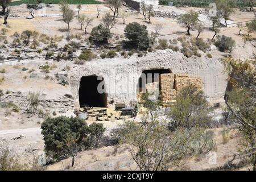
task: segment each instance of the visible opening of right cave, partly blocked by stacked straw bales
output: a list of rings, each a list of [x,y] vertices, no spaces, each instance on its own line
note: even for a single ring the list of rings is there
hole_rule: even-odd
[[[146,84],[158,82],[159,76],[163,73],[171,73],[170,69],[148,69],[142,72],[137,84],[137,92],[142,92],[146,89]]]

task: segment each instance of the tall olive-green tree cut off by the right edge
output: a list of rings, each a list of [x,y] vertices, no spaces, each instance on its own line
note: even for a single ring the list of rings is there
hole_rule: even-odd
[[[256,171],[256,69],[255,60],[225,59],[224,65],[233,88],[225,103],[235,127],[242,134],[241,155]]]

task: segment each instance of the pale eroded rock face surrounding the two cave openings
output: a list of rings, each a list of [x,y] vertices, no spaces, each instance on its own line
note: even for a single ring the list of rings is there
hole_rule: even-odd
[[[137,84],[145,70],[170,69],[172,73],[188,73],[200,77],[203,91],[210,103],[223,102],[227,85],[227,75],[219,60],[202,57],[184,57],[182,53],[171,49],[148,53],[145,57],[131,56],[129,59],[97,59],[76,65],[70,75],[71,90],[79,105],[79,86],[82,76],[99,76],[104,78],[108,106],[117,103],[130,105],[137,100]],[[86,85],[90,89],[90,85]],[[109,104],[111,102],[112,104]]]

